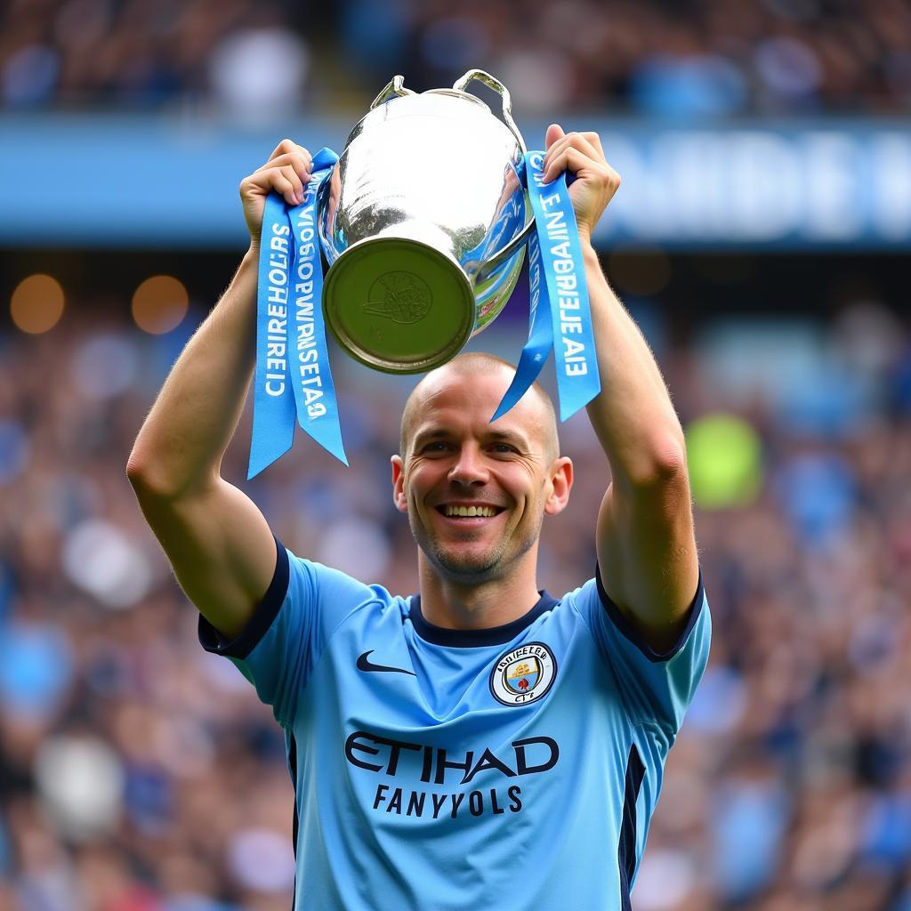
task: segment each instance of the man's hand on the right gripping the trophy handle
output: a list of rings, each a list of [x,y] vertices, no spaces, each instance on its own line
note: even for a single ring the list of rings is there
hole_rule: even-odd
[[[617,192],[620,176],[605,159],[597,133],[564,133],[554,123],[548,127],[545,147],[544,181],[557,179],[563,171],[574,175],[569,199],[576,211],[579,237],[590,241],[601,213]]]

